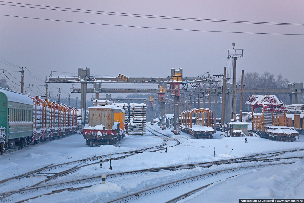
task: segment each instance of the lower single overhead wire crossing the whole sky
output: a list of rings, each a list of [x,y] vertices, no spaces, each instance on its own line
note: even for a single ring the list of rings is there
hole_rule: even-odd
[[[92,24],[92,25],[109,25],[109,26],[120,26],[120,27],[150,28],[150,29],[158,29],[158,30],[180,30],[180,31],[196,31],[196,32],[240,33],[240,34],[268,34],[268,35],[300,35],[300,36],[304,35],[304,34],[288,34],[288,33],[231,32],[231,31],[215,31],[215,30],[191,30],[191,29],[176,29],[176,28],[161,28],[161,27],[115,25],[115,24],[105,24],[105,23],[88,23],[88,22],[69,21],[69,20],[55,20],[55,19],[46,19],[46,18],[32,18],[32,17],[12,16],[12,15],[3,15],[3,14],[0,14],[0,16],[9,16],[9,17],[18,17],[18,18],[27,18],[27,19],[39,19],[39,20],[49,20],[49,21],[67,22],[67,23],[83,23],[83,24]]]

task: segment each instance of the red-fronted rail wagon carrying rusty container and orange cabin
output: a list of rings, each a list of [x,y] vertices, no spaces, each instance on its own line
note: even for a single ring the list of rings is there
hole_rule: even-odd
[[[126,131],[124,109],[114,105],[89,107],[89,123],[83,130],[87,145],[114,145]]]

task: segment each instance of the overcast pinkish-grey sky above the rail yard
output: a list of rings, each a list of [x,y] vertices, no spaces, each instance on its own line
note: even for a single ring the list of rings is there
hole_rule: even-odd
[[[157,16],[304,23],[304,2],[301,0],[10,2]],[[147,19],[7,5],[0,5],[0,14],[129,26],[304,34],[303,26]],[[197,76],[208,71],[217,75],[223,73],[227,50],[235,43],[236,49],[244,49],[244,58],[237,60],[238,78],[244,69],[245,72],[282,73],[291,82],[304,81],[304,36],[157,30],[0,16],[0,39],[0,56],[13,64],[26,66],[41,80],[45,80],[51,70],[77,73],[78,67],[89,67],[91,74],[112,76],[119,73],[168,76],[171,68],[183,68],[184,76]],[[0,69],[17,70],[2,63]],[[19,75],[15,74],[20,78]],[[44,84],[28,75],[25,83],[25,86],[28,83]],[[63,86],[66,92],[71,87],[70,84],[54,86]]]

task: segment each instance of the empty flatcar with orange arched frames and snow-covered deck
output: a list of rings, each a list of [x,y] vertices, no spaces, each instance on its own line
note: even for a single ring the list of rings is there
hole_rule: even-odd
[[[212,111],[209,109],[192,109],[181,112],[181,131],[195,138],[212,138]]]

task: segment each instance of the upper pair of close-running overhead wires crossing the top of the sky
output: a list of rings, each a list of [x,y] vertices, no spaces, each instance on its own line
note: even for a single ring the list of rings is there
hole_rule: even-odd
[[[34,9],[47,9],[47,10],[57,10],[57,11],[68,11],[68,12],[81,12],[81,13],[92,13],[92,14],[103,14],[103,15],[115,15],[115,16],[131,16],[131,17],[142,17],[142,18],[156,18],[156,19],[174,19],[174,20],[191,20],[191,21],[207,21],[207,22],[220,22],[220,23],[249,23],[249,24],[267,24],[267,25],[292,25],[292,26],[304,26],[302,23],[274,23],[274,22],[256,22],[256,21],[239,21],[239,20],[221,20],[221,19],[203,19],[203,18],[186,18],[186,17],[173,17],[173,16],[155,16],[155,15],[144,15],[144,14],[134,14],[134,13],[120,13],[120,12],[107,12],[107,11],[96,11],[96,10],[86,10],[86,9],[72,9],[56,6],[45,6],[45,5],[35,5],[35,4],[24,4],[24,3],[15,3],[15,2],[5,2],[19,5],[10,5],[10,4],[0,4],[8,6],[18,6]],[[22,6],[29,5],[29,6]],[[32,6],[40,6],[47,8],[39,8]],[[53,8],[53,9],[50,9]],[[63,10],[70,9],[70,10]]]

